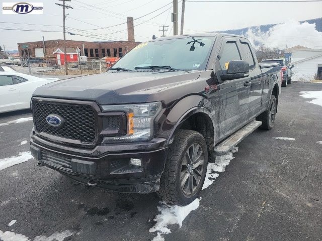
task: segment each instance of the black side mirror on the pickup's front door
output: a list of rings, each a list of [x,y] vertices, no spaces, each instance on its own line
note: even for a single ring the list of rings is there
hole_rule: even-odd
[[[248,77],[250,64],[245,60],[234,60],[228,63],[226,71],[222,71],[221,80],[240,79]]]

